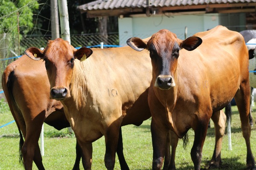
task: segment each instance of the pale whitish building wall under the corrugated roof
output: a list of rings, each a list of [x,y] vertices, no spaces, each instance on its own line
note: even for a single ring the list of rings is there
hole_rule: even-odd
[[[233,19],[233,17],[236,18]],[[207,31],[207,29],[218,25],[230,26],[231,24],[234,26],[244,24],[244,22],[245,14],[233,14],[230,16],[227,14],[187,14],[168,17],[166,15],[124,17],[118,19],[119,45],[126,45],[126,40],[131,37],[150,37],[160,29],[168,29],[183,40],[185,39],[185,27],[187,27],[187,37],[190,37],[197,32]]]

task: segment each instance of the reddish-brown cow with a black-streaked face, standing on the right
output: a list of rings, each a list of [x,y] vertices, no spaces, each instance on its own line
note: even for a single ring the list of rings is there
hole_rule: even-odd
[[[209,119],[218,116],[217,111],[233,97],[247,146],[247,167],[256,168],[250,148],[248,51],[241,34],[217,26],[180,40],[160,30],[148,41],[133,37],[127,43],[136,51],[150,52],[153,73],[148,103],[154,170],[163,164],[168,130],[181,138],[190,128],[195,131],[191,157],[199,170]]]

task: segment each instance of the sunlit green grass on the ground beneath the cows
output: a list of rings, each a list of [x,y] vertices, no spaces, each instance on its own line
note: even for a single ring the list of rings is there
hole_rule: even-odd
[[[6,103],[1,101],[1,107],[6,108]],[[220,170],[243,170],[246,164],[246,146],[241,134],[241,123],[236,106],[232,107],[233,116],[231,122],[232,150],[228,150],[227,135],[223,139],[222,164]],[[251,147],[256,155],[256,107],[254,107],[253,123],[251,131]],[[8,109],[0,113],[0,126],[13,120]],[[151,119],[143,122],[140,127],[128,125],[122,127],[124,155],[131,170],[151,170],[152,144],[150,133]],[[44,156],[43,163],[47,170],[68,170],[72,169],[76,151],[76,138],[70,135],[67,129],[58,131],[53,127],[44,124]],[[177,170],[193,170],[193,163],[190,158],[190,150],[194,141],[194,132],[189,130],[189,143],[186,150],[183,149],[180,140],[176,153]],[[213,122],[208,129],[204,142],[203,158],[201,168],[206,169],[213,153],[215,143]],[[19,164],[18,130],[15,123],[0,128],[0,170],[23,170]],[[93,170],[106,169],[104,165],[105,142],[104,137],[93,143]],[[33,163],[33,170],[36,170]],[[80,169],[83,167],[80,165]],[[119,161],[116,156],[115,170],[119,170]]]

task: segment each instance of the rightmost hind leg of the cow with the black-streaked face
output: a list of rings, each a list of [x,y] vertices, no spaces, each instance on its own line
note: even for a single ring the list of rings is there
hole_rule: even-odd
[[[250,87],[249,82],[244,82],[240,85],[239,90],[235,95],[236,105],[239,111],[239,116],[241,119],[241,129],[243,137],[245,139],[245,144],[247,147],[247,158],[246,165],[248,169],[253,169],[255,167],[255,161],[253,159],[253,153],[250,147],[250,131],[251,126],[249,123],[249,110],[250,110]]]

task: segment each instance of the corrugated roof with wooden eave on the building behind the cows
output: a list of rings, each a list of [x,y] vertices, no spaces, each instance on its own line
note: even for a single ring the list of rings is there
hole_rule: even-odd
[[[81,13],[87,12],[87,17],[99,17],[152,11],[255,12],[255,6],[256,0],[96,0],[77,8]]]

